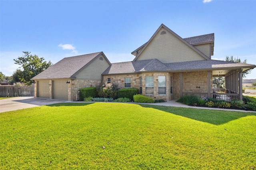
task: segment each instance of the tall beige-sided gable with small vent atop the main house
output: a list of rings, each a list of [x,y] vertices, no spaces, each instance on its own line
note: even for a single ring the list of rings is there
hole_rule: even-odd
[[[158,59],[162,63],[176,63],[207,60],[209,57],[162,24],[134,61],[147,59]]]

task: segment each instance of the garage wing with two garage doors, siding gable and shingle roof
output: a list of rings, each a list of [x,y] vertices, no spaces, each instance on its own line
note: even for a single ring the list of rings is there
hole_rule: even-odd
[[[110,65],[103,52],[64,58],[32,78],[34,96],[76,100],[80,88],[101,84],[101,74]]]

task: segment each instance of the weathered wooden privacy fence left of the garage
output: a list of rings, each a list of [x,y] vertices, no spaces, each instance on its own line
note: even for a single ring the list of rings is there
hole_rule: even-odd
[[[34,96],[32,86],[0,86],[0,97]]]

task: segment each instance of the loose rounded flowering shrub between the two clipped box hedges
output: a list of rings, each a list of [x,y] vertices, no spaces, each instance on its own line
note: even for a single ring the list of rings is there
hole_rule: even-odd
[[[96,94],[100,98],[116,98],[117,85],[112,83],[104,83],[96,87]]]

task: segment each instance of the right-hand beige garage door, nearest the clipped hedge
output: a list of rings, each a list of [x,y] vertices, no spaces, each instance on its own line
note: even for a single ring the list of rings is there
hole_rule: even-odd
[[[68,100],[68,84],[67,80],[54,80],[53,84],[53,98],[59,100]]]

